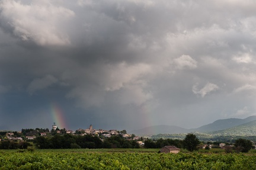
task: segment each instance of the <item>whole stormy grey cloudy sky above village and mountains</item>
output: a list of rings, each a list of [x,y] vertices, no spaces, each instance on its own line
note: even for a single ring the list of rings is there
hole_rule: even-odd
[[[254,0],[1,0],[0,130],[196,128],[256,113]]]

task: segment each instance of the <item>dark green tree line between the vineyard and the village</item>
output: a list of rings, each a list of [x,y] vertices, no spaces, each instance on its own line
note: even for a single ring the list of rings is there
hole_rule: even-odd
[[[142,139],[141,139],[142,140]],[[140,148],[137,140],[126,139],[121,134],[104,138],[103,136],[94,136],[92,134],[72,135],[72,134],[55,134],[53,136],[39,136],[33,140],[34,146],[39,149],[75,149],[75,148]],[[161,148],[172,145],[178,148],[187,149],[190,152],[199,149],[199,139],[195,134],[187,134],[184,140],[179,139],[146,139],[145,148]],[[27,149],[32,146],[30,142],[14,142],[4,140],[0,142],[0,149]],[[233,146],[225,146],[226,152],[248,152],[252,149],[251,140],[238,139]],[[206,147],[206,149],[209,149]]]

